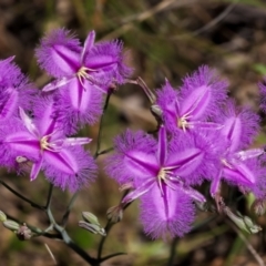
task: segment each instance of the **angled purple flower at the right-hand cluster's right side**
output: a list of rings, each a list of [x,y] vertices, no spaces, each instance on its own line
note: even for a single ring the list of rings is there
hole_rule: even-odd
[[[221,164],[217,165],[219,171],[212,182],[211,194],[214,196],[221,181],[225,180],[260,197],[263,167],[259,156],[264,151],[243,150],[252,143],[258,132],[257,114],[247,108],[236,108],[233,101],[227,101],[225,112],[217,120],[224,124],[219,131],[219,141],[224,143],[224,151],[219,155]]]

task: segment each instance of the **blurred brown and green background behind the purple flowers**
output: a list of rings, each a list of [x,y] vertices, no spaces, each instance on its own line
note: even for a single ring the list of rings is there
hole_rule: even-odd
[[[121,39],[127,64],[134,68],[133,79],[142,79],[152,89],[160,88],[165,78],[174,86],[182,78],[202,64],[216,68],[228,79],[229,94],[237,102],[258,111],[257,83],[266,75],[266,2],[264,0],[0,0],[0,58],[16,55],[21,66],[38,88],[50,78],[37,65],[34,48],[48,31],[64,27],[83,41],[92,29],[98,40]],[[266,143],[263,130],[254,145]],[[102,149],[112,146],[112,139],[126,127],[153,130],[155,120],[140,88],[127,84],[111,98],[103,126]],[[95,150],[99,124],[82,130],[82,135],[94,139],[89,149]],[[102,155],[98,158],[103,167]],[[28,176],[13,176],[2,171],[3,180],[32,200],[44,203],[48,183],[39,177],[30,183]],[[106,223],[106,209],[117,204],[121,193],[117,184],[100,171],[98,181],[84,188],[71,213],[70,235],[90,254],[95,255],[100,236],[78,227],[82,211],[99,216]],[[226,193],[226,192],[225,192]],[[234,192],[236,193],[236,192]],[[235,194],[234,194],[235,195]],[[52,206],[60,218],[71,195],[55,190]],[[31,208],[0,186],[0,209],[31,225],[45,228],[44,214]],[[234,203],[233,207],[248,214],[249,200]],[[257,265],[237,233],[224,217],[198,213],[195,229],[175,241],[178,266],[252,266]],[[254,217],[266,227],[266,218]],[[206,221],[205,223],[202,223]],[[54,265],[44,244],[53,253],[58,265],[86,265],[60,242],[44,237],[19,242],[0,225],[0,265]],[[249,244],[266,262],[265,231],[246,236]],[[124,213],[105,243],[103,255],[124,252],[103,265],[164,266],[171,252],[171,242],[151,241],[142,232],[137,218],[137,203]]]

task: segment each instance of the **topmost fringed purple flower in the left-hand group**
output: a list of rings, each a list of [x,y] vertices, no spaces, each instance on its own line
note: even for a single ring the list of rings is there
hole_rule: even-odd
[[[81,48],[78,39],[63,29],[52,31],[37,49],[41,68],[55,78],[44,92],[60,89],[61,108],[73,123],[94,123],[102,113],[102,93],[124,83],[131,73],[123,63],[122,43],[94,43],[91,31]]]

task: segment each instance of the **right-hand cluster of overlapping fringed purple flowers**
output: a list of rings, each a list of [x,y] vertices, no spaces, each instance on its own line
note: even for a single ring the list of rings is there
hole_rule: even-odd
[[[263,85],[260,93],[266,99]],[[146,234],[157,238],[187,233],[195,218],[194,202],[206,201],[195,186],[205,181],[217,211],[227,216],[234,215],[218,202],[222,182],[259,201],[266,198],[264,150],[248,150],[258,133],[259,116],[227,98],[227,82],[214,70],[201,66],[183,80],[180,90],[166,81],[152,104],[160,110],[157,134],[126,131],[117,136],[105,167],[122,186],[132,186],[122,203],[140,197]]]

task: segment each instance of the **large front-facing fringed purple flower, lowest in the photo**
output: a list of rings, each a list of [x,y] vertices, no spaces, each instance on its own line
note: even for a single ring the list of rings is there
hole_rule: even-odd
[[[116,153],[108,161],[106,172],[134,187],[123,203],[141,197],[144,231],[154,238],[167,233],[183,236],[194,219],[192,201],[205,201],[186,184],[186,177],[198,176],[205,168],[204,151],[178,143],[175,136],[167,141],[164,126],[157,142],[143,132],[127,131],[116,139]]]

